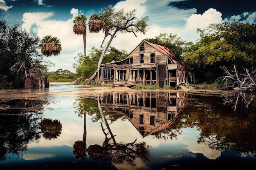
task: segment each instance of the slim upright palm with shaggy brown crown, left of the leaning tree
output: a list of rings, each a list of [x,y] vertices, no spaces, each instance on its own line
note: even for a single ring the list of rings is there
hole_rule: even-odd
[[[84,48],[85,56],[86,56],[86,20],[87,20],[87,17],[85,15],[81,15],[81,16],[78,15],[73,20],[74,33],[77,35],[83,34],[83,48]]]

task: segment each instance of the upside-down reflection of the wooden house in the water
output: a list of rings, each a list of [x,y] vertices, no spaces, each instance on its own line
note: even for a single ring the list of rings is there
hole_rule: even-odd
[[[103,93],[99,96],[103,110],[124,113],[142,136],[171,123],[179,114],[183,99],[180,92]]]

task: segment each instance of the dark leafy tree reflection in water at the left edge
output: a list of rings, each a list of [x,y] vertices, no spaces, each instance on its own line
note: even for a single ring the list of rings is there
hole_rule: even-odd
[[[25,152],[27,144],[40,139],[38,121],[41,115],[37,112],[26,114],[0,115],[0,160],[12,153],[20,155]]]

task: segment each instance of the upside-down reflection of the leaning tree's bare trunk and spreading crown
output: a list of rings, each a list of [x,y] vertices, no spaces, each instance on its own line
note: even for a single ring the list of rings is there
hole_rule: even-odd
[[[101,106],[99,103],[98,97],[98,107],[102,116],[102,121],[104,121],[107,129],[103,128],[103,124],[101,122],[101,127],[103,133],[105,134],[105,141],[102,146],[100,145],[91,145],[88,147],[88,155],[93,160],[103,160],[109,164],[121,164],[126,163],[127,165],[135,166],[135,159],[141,158],[149,161],[150,150],[149,146],[146,145],[145,142],[136,143],[136,140],[132,143],[124,144],[123,142],[117,143],[115,141],[115,136],[112,134],[110,127],[108,126],[108,122],[106,120],[103,111],[101,110]],[[105,132],[108,130],[108,132]],[[110,134],[111,137],[108,137]],[[110,142],[112,140],[112,143]]]

